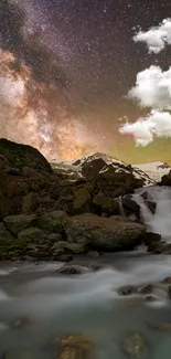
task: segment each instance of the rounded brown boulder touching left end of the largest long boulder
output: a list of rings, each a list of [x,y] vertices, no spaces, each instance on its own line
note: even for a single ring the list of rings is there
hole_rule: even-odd
[[[43,214],[38,223],[38,226],[47,233],[58,233],[63,232],[64,221],[66,214],[63,211],[52,211]]]

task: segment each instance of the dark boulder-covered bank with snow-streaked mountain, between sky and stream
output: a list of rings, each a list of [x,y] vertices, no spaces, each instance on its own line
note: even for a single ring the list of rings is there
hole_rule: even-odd
[[[162,249],[160,235],[146,233],[131,198],[156,182],[110,156],[50,165],[35,148],[0,139],[0,260],[67,262],[140,244],[154,253]],[[170,179],[164,176],[160,186]],[[146,189],[142,196],[154,212]]]

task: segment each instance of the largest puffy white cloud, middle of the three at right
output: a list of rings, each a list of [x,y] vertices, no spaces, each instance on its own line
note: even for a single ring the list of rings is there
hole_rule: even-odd
[[[136,86],[128,92],[128,97],[139,102],[142,107],[171,108],[171,66],[162,71],[151,65],[137,74]]]

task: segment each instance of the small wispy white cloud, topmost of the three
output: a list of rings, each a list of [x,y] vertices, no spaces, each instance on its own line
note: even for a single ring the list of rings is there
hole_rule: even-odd
[[[158,54],[167,44],[171,44],[171,19],[164,19],[159,27],[152,27],[148,31],[139,31],[133,41],[146,43],[149,53]]]

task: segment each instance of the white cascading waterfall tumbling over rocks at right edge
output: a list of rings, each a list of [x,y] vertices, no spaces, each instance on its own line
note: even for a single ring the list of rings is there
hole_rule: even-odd
[[[147,192],[148,200],[142,193]],[[149,232],[161,234],[162,239],[171,242],[171,188],[170,187],[147,187],[135,191],[132,199],[140,205],[141,218]],[[157,204],[152,214],[148,201]]]

